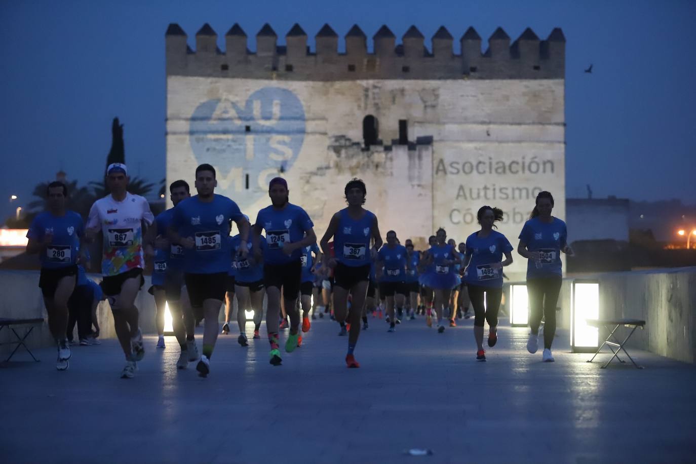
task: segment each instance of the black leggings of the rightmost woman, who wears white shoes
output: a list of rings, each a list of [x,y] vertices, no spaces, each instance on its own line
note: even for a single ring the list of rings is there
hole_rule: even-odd
[[[541,317],[544,317],[544,348],[548,349],[556,333],[556,303],[561,283],[560,275],[527,279],[529,327],[533,334],[538,334]]]

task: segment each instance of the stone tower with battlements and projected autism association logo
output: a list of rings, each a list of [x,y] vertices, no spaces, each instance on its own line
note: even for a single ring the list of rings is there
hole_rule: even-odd
[[[352,177],[367,184],[366,207],[384,232],[425,241],[445,227],[457,241],[477,230],[483,205],[505,211],[499,230],[516,243],[536,194],[555,196],[564,218],[565,38],[526,29],[512,44],[503,29],[482,39],[468,28],[454,53],[441,27],[429,44],[416,26],[401,43],[388,26],[373,37],[353,26],[339,52],[325,24],[295,24],[278,45],[269,24],[251,51],[239,24],[225,49],[208,24],[195,50],[177,24],[166,31],[167,181],[193,181],[216,167],[218,193],[254,221],[268,205],[267,182],[282,175],[290,201],[322,234],[345,205]],[[220,41],[221,42],[221,41]],[[429,45],[429,47],[428,47]],[[522,275],[520,259],[509,268]]]

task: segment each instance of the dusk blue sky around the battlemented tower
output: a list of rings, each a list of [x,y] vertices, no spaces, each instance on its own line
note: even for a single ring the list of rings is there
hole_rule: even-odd
[[[142,3],[142,4],[141,4]],[[145,4],[145,5],[143,5]],[[696,203],[695,1],[2,1],[0,2],[0,223],[63,168],[80,184],[103,175],[111,119],[125,124],[132,175],[164,177],[164,32],[223,35],[238,22],[250,37],[265,22],[278,42],[294,22],[313,36],[328,22],[341,36],[381,24],[400,38],[415,24],[484,39],[530,26],[567,39],[567,196]],[[372,40],[370,39],[370,47]],[[594,64],[592,74],[585,67]],[[9,196],[19,200],[10,205]]]

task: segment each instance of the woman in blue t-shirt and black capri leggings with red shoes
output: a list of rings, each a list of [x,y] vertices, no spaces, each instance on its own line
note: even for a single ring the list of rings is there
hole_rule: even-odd
[[[488,346],[495,346],[498,341],[498,310],[500,310],[500,300],[503,298],[503,267],[512,264],[512,245],[505,235],[493,230],[496,222],[503,219],[501,209],[481,207],[476,218],[481,225],[481,230],[474,232],[466,239],[464,280],[474,308],[476,360],[485,361],[484,321],[488,321],[490,326]],[[504,261],[503,255],[505,255]]]

